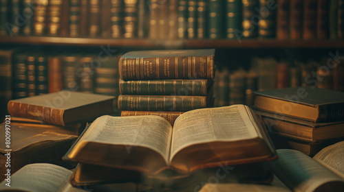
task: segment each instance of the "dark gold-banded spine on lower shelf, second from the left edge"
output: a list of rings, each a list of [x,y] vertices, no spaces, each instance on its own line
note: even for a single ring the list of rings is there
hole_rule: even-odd
[[[24,53],[17,53],[13,58],[13,97],[19,99],[28,97],[28,77],[26,68],[26,59],[28,57]]]

